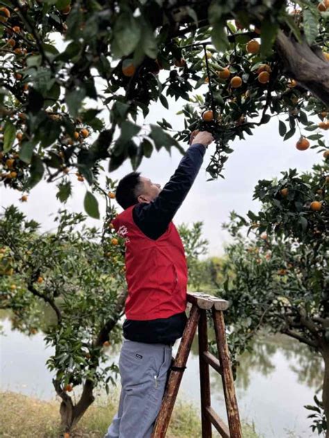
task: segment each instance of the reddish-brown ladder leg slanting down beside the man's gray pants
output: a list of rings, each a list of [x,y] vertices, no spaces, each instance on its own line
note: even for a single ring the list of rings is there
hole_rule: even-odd
[[[166,436],[167,428],[169,426],[169,421],[178,394],[180,382],[183,378],[183,367],[185,367],[186,365],[187,357],[189,356],[189,351],[191,350],[192,341],[196,332],[196,327],[198,326],[199,317],[199,308],[197,308],[196,305],[193,305],[174,362],[174,367],[182,368],[182,370],[170,371],[169,380],[165,389],[165,395],[162,398],[160,412],[158,414],[157,420],[155,421],[155,426],[152,434],[153,438],[164,438]]]

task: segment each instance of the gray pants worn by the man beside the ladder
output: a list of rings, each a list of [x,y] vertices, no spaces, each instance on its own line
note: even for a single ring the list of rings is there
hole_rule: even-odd
[[[124,339],[119,410],[104,438],[149,438],[160,411],[172,347]]]

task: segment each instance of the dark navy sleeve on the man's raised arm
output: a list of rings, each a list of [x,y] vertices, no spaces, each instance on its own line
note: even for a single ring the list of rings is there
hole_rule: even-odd
[[[139,203],[133,209],[133,219],[142,232],[151,239],[165,233],[178,208],[199,173],[205,155],[203,144],[192,144],[169,182],[151,203]]]

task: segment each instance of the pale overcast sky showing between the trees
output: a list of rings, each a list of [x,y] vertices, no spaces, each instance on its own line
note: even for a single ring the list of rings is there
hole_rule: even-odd
[[[58,39],[56,43],[59,49],[62,44]],[[197,90],[201,94],[201,89]],[[183,128],[183,115],[176,115],[185,101],[169,100],[169,110],[166,110],[160,103],[154,103],[150,108],[150,113],[146,118],[146,123],[164,117],[171,123],[174,129]],[[95,108],[95,103],[90,101],[88,106]],[[99,108],[99,107],[98,107]],[[108,125],[108,116],[105,121]],[[140,123],[142,120],[140,120]],[[328,135],[328,133],[327,133]],[[223,245],[228,242],[228,233],[221,228],[223,222],[228,221],[229,213],[232,210],[239,214],[245,214],[248,210],[258,211],[259,203],[253,201],[253,188],[258,180],[263,178],[280,177],[281,171],[298,169],[298,171],[310,171],[312,165],[322,161],[322,154],[316,153],[312,149],[298,151],[295,148],[298,134],[295,137],[282,141],[278,134],[278,119],[273,118],[269,124],[260,126],[254,130],[253,136],[246,136],[245,141],[237,140],[231,144],[234,152],[226,162],[223,175],[225,179],[219,178],[215,181],[206,181],[210,176],[205,172],[205,168],[210,160],[210,155],[214,151],[214,144],[208,147],[205,153],[203,166],[197,176],[194,186],[190,190],[180,210],[178,210],[174,223],[176,225],[185,222],[192,224],[194,221],[203,221],[203,234],[209,239],[210,255],[221,255]],[[92,141],[92,138],[90,139]],[[187,144],[182,144],[187,148]],[[139,171],[155,183],[162,186],[167,183],[170,176],[182,158],[182,155],[172,149],[171,156],[165,149],[156,153],[153,152],[151,158],[144,158]],[[104,163],[107,170],[108,164]],[[117,171],[112,172],[111,178],[119,179],[132,170],[130,162],[125,162]],[[72,172],[71,181],[74,183],[74,196],[72,196],[65,208],[72,211],[83,211],[83,198],[87,187],[86,182],[81,183],[76,180]],[[28,196],[27,203],[20,203],[19,197],[22,193],[12,189],[0,187],[1,206],[6,207],[11,203],[19,205],[19,208],[29,219],[35,219],[42,224],[42,230],[52,230],[56,227],[53,222],[55,213],[62,204],[56,199],[56,185],[45,182],[39,183]],[[105,203],[99,198],[101,213],[105,212]],[[121,208],[119,208],[121,211]],[[88,219],[88,224],[101,226],[101,221]]]

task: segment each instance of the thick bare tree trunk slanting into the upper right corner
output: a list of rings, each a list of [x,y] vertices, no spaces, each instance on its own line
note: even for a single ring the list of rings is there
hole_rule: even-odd
[[[276,47],[289,76],[329,106],[329,62],[321,50],[278,32]]]

